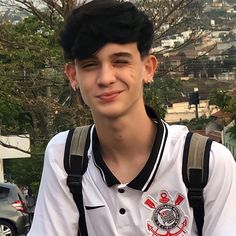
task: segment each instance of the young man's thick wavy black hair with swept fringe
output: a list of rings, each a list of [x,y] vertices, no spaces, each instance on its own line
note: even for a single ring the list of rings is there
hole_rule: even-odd
[[[130,2],[93,0],[72,11],[60,33],[66,60],[83,60],[107,43],[137,42],[141,56],[149,53],[153,24]]]

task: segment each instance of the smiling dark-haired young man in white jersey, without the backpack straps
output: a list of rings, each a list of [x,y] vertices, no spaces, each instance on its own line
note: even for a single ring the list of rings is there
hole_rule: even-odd
[[[143,100],[143,85],[157,68],[152,40],[148,17],[115,0],[75,9],[61,33],[66,75],[94,120],[82,180],[89,236],[198,235],[182,179],[188,129],[169,126]],[[63,166],[67,134],[57,134],[46,149],[29,236],[77,235],[79,212]],[[235,199],[235,162],[213,142],[204,236],[234,234]]]

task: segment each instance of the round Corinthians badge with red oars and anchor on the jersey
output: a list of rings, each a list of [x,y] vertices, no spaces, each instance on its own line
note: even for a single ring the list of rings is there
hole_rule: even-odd
[[[160,192],[158,201],[147,197],[144,205],[152,210],[151,221],[147,221],[147,231],[151,236],[184,236],[187,235],[188,219],[183,214],[180,205],[184,197],[178,194],[172,200],[166,191]]]

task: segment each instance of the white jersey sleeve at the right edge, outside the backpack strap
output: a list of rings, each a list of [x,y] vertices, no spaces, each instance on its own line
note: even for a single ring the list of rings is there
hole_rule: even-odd
[[[235,235],[236,162],[225,146],[213,142],[209,168],[203,235]]]

